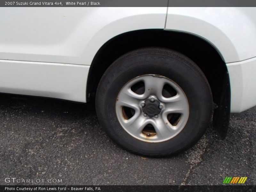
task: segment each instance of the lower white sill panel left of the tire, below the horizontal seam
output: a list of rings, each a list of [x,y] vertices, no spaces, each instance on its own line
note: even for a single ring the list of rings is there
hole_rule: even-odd
[[[0,60],[0,92],[85,102],[89,66]]]

